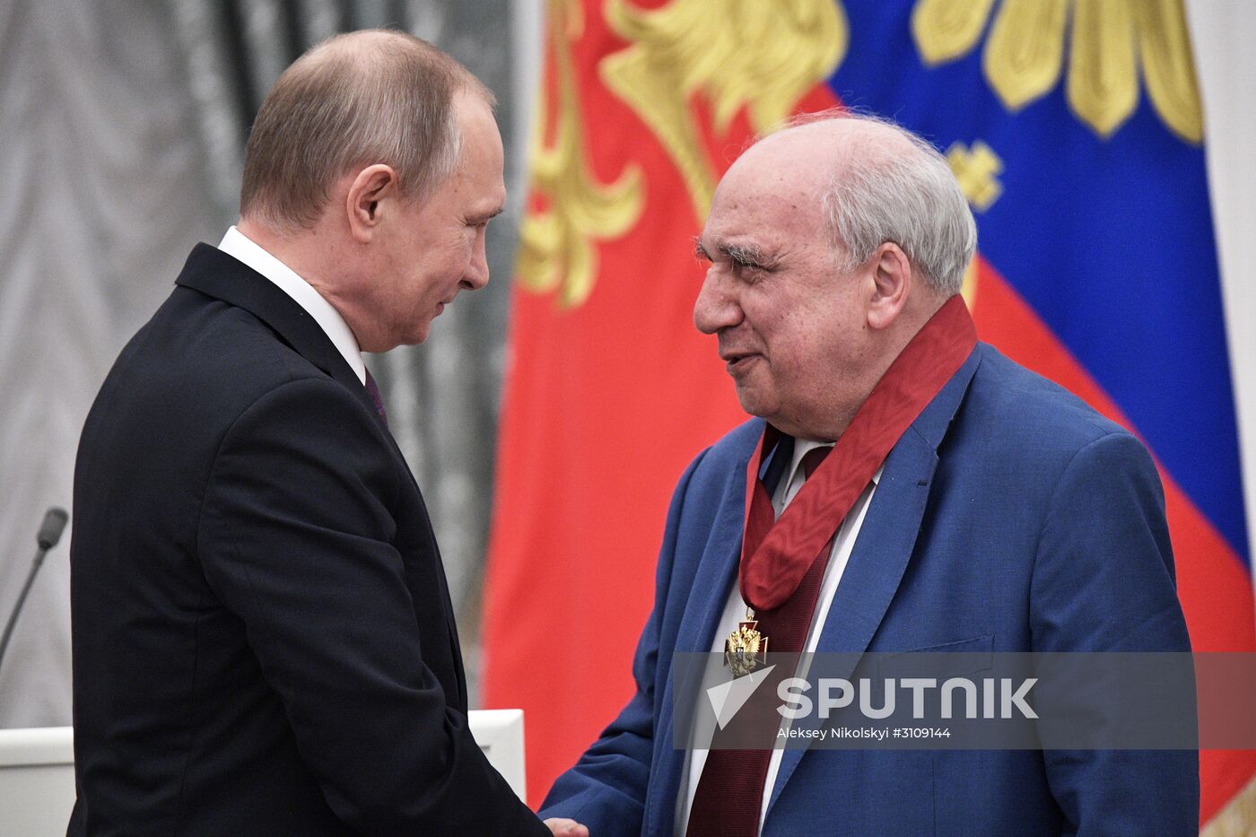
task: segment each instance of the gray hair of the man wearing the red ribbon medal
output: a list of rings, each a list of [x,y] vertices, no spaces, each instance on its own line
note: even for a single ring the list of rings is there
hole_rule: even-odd
[[[857,131],[849,140],[845,160],[821,194],[834,244],[845,251],[842,268],[853,270],[891,241],[903,249],[927,285],[946,297],[960,293],[965,268],[977,249],[977,225],[946,158],[893,122],[849,111],[803,114],[785,129],[829,119],[873,128]],[[903,142],[885,142],[875,128]]]

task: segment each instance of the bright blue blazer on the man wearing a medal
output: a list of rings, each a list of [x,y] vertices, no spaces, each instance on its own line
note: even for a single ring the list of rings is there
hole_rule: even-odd
[[[672,655],[711,648],[761,431],[737,427],[681,478],[636,694],[543,817],[672,833]],[[1189,650],[1147,450],[986,344],[885,459],[818,647],[913,650]],[[1198,807],[1192,750],[788,749],[762,833],[1194,834]]]

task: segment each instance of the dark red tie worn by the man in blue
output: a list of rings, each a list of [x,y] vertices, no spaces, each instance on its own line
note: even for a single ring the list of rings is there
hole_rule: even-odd
[[[828,446],[815,447],[803,455],[801,466],[805,478],[811,476],[830,450],[833,449]],[[775,512],[766,486],[760,481],[755,488],[750,520],[751,525],[762,525],[765,519],[775,519]],[[803,576],[803,582],[784,604],[755,613],[755,618],[759,620],[757,630],[767,637],[767,647],[772,654],[803,651],[806,631],[815,612],[815,602],[820,596],[824,569],[829,566],[830,552],[833,552],[831,539],[811,562],[811,567]],[[771,682],[760,686],[756,696],[775,695],[776,682],[788,676],[793,676],[793,671],[774,671]],[[767,701],[751,700],[737,713],[737,720],[750,724],[779,724],[780,715]],[[720,741],[722,731],[716,733],[713,744]],[[745,735],[744,731],[739,734]],[[690,809],[690,826],[685,832],[687,837],[755,837],[759,833],[759,812],[762,808],[766,790],[764,783],[767,780],[771,759],[772,750],[769,748],[711,749],[702,767],[693,807]]]

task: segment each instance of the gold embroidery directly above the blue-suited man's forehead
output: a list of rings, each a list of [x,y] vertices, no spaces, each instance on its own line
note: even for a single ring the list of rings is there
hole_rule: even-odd
[[[713,109],[717,133],[745,106],[751,127],[784,119],[842,62],[847,21],[834,0],[673,0],[654,10],[607,0],[607,21],[631,45],[602,59],[602,79],[667,150],[706,217],[716,172],[690,107],[695,93]]]

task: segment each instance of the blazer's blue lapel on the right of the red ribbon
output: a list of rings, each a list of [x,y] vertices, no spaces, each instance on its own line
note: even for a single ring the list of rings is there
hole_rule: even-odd
[[[858,661],[857,655],[867,651],[889,610],[919,533],[933,471],[938,464],[937,447],[963,401],[982,354],[983,348],[978,343],[960,371],[924,407],[885,457],[885,469],[864,515],[815,648],[818,654],[849,654],[849,665],[825,666],[825,676],[850,675]],[[781,754],[780,770],[767,807],[769,816],[805,752],[804,747],[786,749]]]

